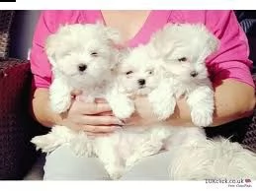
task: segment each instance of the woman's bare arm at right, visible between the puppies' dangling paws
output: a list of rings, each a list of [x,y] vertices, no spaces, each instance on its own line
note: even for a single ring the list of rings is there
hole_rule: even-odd
[[[246,117],[252,113],[255,106],[254,88],[231,79],[224,80],[215,88],[214,97],[215,110],[212,126]],[[133,116],[130,123],[148,124],[156,121],[145,97],[137,97],[135,105],[139,117]],[[174,114],[166,122],[175,126],[193,126],[190,108],[185,98],[178,100]]]

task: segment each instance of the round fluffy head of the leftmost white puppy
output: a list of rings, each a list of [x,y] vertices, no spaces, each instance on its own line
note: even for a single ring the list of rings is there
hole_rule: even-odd
[[[66,25],[48,36],[45,52],[53,71],[70,81],[100,82],[116,64],[119,32],[97,24]]]

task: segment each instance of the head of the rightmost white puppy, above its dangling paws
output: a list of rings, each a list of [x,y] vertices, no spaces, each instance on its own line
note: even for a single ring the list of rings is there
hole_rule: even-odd
[[[154,54],[164,59],[164,70],[185,82],[208,78],[206,58],[218,47],[218,39],[204,25],[167,25],[151,39]]]

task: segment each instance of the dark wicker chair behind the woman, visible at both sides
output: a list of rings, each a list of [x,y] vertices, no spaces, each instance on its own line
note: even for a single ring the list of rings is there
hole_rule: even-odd
[[[30,140],[43,133],[29,113],[30,63],[8,57],[14,16],[15,11],[0,11],[0,179],[24,179],[39,158]],[[256,149],[256,110],[251,117],[206,131],[209,137],[232,136],[232,141]]]

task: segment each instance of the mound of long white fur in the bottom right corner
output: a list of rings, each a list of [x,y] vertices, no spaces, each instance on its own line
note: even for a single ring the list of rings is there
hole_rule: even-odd
[[[172,180],[256,178],[256,154],[227,139],[199,141],[171,148]]]

